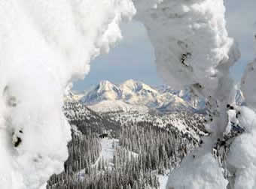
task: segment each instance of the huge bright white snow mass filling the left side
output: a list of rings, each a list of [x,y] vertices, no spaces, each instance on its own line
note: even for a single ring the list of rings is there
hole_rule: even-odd
[[[62,171],[65,88],[120,40],[120,20],[134,13],[129,0],[0,2],[0,188],[45,188]]]

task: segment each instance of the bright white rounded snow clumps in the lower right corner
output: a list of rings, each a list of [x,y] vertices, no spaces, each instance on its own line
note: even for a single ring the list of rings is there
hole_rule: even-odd
[[[236,175],[234,189],[253,189],[256,187],[256,113],[248,107],[236,107],[237,113],[245,132],[234,139],[227,160]]]

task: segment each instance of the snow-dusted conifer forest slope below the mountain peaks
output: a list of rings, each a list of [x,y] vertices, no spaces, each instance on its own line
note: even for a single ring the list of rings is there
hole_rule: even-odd
[[[159,188],[159,175],[178,166],[206,134],[202,115],[99,114],[75,100],[63,110],[73,125],[69,159],[47,189]],[[111,142],[111,159],[102,155],[105,141]]]

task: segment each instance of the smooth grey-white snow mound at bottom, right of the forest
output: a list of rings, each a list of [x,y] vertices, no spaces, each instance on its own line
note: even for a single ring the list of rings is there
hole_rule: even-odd
[[[227,180],[224,179],[218,162],[212,154],[195,157],[184,157],[181,166],[175,174],[169,175],[166,189],[216,189],[226,188]]]

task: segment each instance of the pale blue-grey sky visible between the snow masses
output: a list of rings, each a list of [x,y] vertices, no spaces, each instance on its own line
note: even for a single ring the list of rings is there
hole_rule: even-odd
[[[245,66],[254,58],[253,36],[256,31],[256,0],[225,0],[227,30],[239,44],[241,58],[231,68],[231,75],[239,83]],[[83,92],[101,80],[120,84],[125,80],[139,80],[152,86],[162,85],[154,65],[154,49],[145,27],[133,20],[121,25],[123,40],[108,54],[91,62],[90,73],[74,83],[73,89]]]

